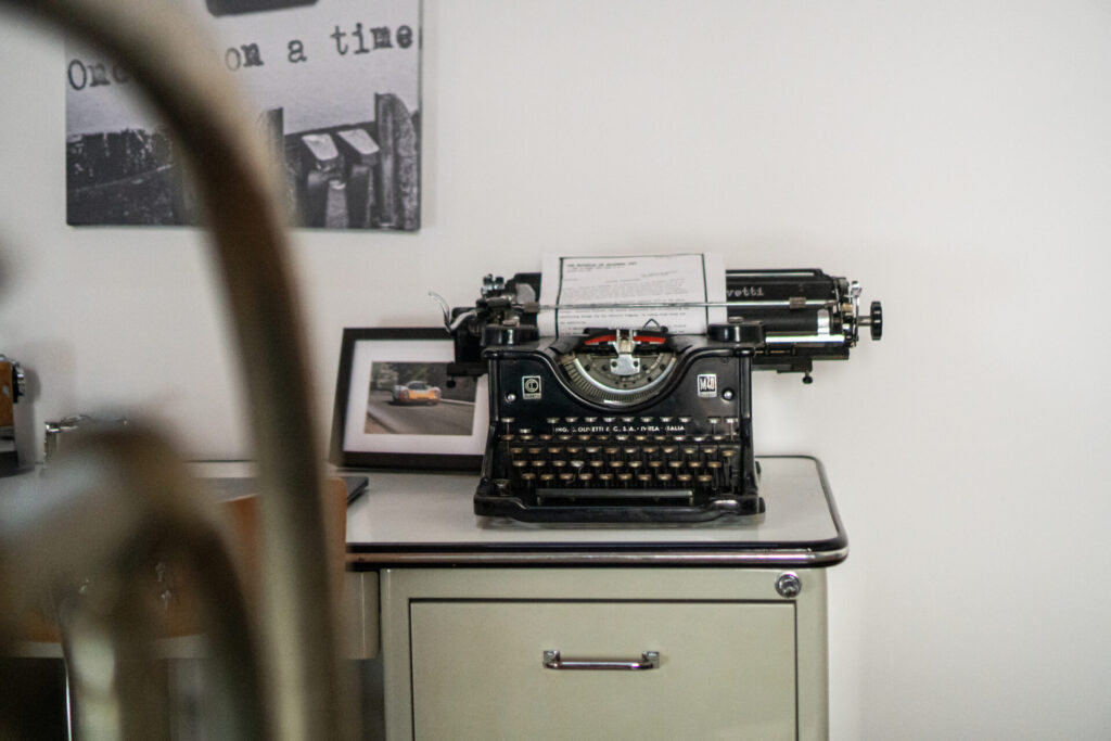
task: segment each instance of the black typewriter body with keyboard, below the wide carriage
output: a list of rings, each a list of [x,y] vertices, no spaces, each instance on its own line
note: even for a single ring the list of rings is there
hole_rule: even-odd
[[[630,330],[637,348],[622,357],[605,349],[618,337],[487,349],[491,425],[476,513],[648,523],[763,511],[754,344]],[[630,363],[623,375],[613,372],[621,362]]]

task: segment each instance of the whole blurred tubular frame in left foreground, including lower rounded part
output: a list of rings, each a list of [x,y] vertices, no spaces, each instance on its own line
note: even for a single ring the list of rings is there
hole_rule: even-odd
[[[116,57],[189,157],[250,401],[263,492],[264,640],[256,663],[253,621],[234,608],[242,599],[232,588],[231,564],[211,531],[198,524],[206,518],[191,509],[200,498],[189,493],[183,470],[169,462],[166,443],[142,429],[90,434],[73,468],[51,470],[52,491],[41,505],[3,519],[0,614],[14,612],[8,602],[14,608],[29,594],[57,589],[73,573],[73,560],[100,570],[101,579],[114,584],[102,609],[82,608],[66,621],[77,671],[90,685],[99,682],[97,697],[103,700],[99,718],[106,725],[90,728],[90,734],[159,738],[164,698],[149,691],[150,641],[140,629],[141,600],[129,592],[150,542],[172,544],[206,578],[212,605],[208,630],[223,647],[238,647],[213,652],[222,670],[211,687],[221,721],[216,738],[344,738],[321,514],[322,457],[311,438],[302,326],[277,189],[263,144],[252,136],[253,122],[192,20],[168,0],[10,1]],[[0,734],[7,732],[2,723]]]

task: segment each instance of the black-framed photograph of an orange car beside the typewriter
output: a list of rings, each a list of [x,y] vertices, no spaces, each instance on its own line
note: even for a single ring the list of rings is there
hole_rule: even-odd
[[[479,470],[490,419],[487,378],[450,378],[453,360],[443,329],[344,329],[332,462]]]

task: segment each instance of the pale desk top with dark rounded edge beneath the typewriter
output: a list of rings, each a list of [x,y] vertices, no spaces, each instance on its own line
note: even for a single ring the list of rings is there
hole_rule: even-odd
[[[348,509],[349,562],[829,565],[848,540],[812,458],[761,458],[767,512],[683,525],[538,525],[476,517],[476,474],[369,472]]]

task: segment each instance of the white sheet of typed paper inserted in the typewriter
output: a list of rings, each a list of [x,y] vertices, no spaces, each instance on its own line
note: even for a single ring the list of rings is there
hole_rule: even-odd
[[[724,307],[621,306],[723,302],[724,263],[720,254],[713,253],[607,258],[546,254],[540,291],[540,303],[546,307],[591,306],[541,311],[537,324],[544,337],[579,334],[588,327],[639,329],[651,320],[674,334],[702,334],[708,324],[725,321]]]

